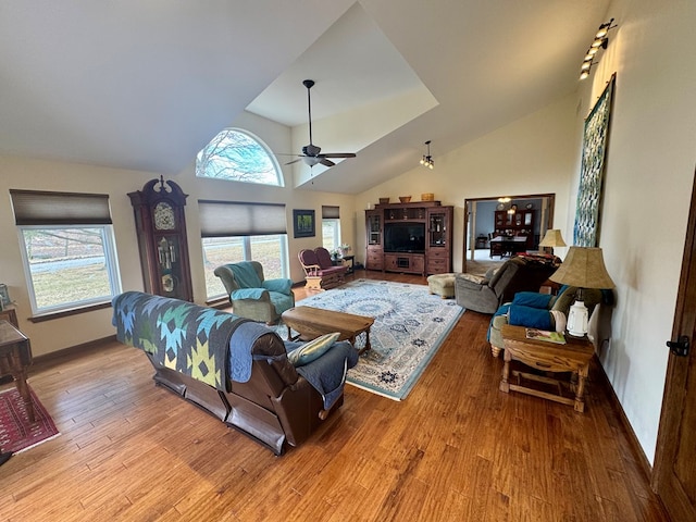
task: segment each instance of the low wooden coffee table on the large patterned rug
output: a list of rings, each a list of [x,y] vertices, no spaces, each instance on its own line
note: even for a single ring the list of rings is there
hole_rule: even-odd
[[[365,334],[365,346],[359,353],[368,351],[370,346],[370,327],[374,319],[352,313],[335,312],[313,307],[295,307],[286,310],[281,315],[287,326],[287,336],[290,340],[312,340],[316,337],[339,332],[338,340],[350,340],[356,344],[356,337]],[[293,330],[298,333],[291,336]]]

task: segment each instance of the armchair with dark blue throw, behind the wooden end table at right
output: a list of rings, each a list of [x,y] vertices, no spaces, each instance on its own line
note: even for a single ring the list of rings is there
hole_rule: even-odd
[[[562,286],[557,296],[521,291],[510,302],[502,304],[490,319],[488,343],[490,353],[498,357],[505,349],[500,330],[504,324],[524,326],[527,328],[563,332],[570,307],[575,302],[579,289],[574,286]],[[591,314],[589,336],[595,346],[610,335],[606,331],[607,313],[611,313],[613,293],[585,288],[582,290],[583,302]]]

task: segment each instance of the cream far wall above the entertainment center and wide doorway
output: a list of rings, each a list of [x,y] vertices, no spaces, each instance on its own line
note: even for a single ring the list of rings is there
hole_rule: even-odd
[[[381,197],[433,192],[443,204],[455,206],[453,268],[461,271],[464,248],[464,200],[504,195],[556,194],[555,226],[567,221],[569,183],[574,172],[577,128],[575,96],[569,96],[467,144],[438,156],[432,146],[435,169],[414,167],[357,197],[356,209],[365,209]],[[418,158],[414,158],[414,162]],[[364,221],[364,212],[362,220]],[[563,237],[568,237],[563,231]],[[359,238],[359,258],[364,259],[364,237]],[[559,249],[562,252],[562,249]]]

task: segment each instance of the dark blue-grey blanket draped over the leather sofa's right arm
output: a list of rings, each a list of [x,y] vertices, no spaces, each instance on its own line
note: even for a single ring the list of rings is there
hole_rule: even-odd
[[[299,346],[301,343],[285,343],[285,349],[288,352]],[[319,359],[303,366],[297,366],[295,370],[321,394],[324,399],[324,409],[330,410],[344,390],[348,369],[356,364],[358,364],[358,350],[344,340],[336,343]]]

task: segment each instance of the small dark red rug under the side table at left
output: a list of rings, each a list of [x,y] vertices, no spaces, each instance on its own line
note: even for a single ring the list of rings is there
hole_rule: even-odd
[[[15,387],[0,393],[0,449],[18,453],[60,435],[46,408],[29,388],[36,422],[30,423]]]

